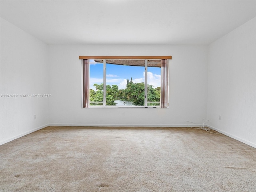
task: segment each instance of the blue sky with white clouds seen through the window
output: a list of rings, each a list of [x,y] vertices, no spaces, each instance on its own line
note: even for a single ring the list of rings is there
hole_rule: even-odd
[[[106,84],[117,85],[119,89],[124,89],[127,79],[134,83],[144,82],[144,66],[124,66],[115,64],[106,64]],[[90,88],[94,89],[93,84],[103,83],[103,64],[90,64]],[[155,88],[161,84],[161,69],[157,67],[148,67],[148,84]]]

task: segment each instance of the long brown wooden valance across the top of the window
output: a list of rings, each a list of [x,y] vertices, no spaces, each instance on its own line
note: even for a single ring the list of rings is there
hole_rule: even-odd
[[[79,56],[79,59],[172,59],[172,56]]]

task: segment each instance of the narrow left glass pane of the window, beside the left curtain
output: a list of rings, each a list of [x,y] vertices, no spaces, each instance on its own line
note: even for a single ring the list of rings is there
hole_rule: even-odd
[[[103,105],[103,63],[90,60],[90,105]]]

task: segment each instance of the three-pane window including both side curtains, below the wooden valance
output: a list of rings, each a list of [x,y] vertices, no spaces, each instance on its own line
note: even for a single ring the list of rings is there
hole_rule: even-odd
[[[167,59],[90,57],[82,70],[84,108],[168,107]]]

